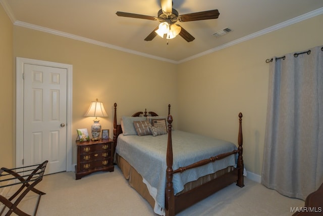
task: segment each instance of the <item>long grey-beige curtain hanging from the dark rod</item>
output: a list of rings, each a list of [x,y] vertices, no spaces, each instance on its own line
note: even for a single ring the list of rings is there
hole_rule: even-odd
[[[323,182],[323,48],[295,56],[270,63],[261,183],[305,199]]]

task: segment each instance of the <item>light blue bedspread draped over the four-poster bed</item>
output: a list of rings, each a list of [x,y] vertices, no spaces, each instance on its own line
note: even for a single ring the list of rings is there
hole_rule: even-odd
[[[118,137],[116,148],[116,153],[126,159],[143,177],[144,182],[148,184],[150,195],[163,209],[165,207],[167,138],[168,135],[140,137],[121,134]],[[172,132],[172,143],[174,170],[237,149],[231,142],[182,131]],[[186,183],[195,181],[199,177],[228,166],[235,166],[235,158],[235,155],[231,155],[219,161],[189,169],[181,174],[175,174],[173,177],[174,193],[181,192]],[[160,214],[160,212],[156,213]]]

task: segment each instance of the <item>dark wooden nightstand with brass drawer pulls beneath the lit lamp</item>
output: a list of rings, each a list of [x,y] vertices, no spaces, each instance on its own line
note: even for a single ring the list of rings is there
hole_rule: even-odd
[[[77,165],[75,165],[76,180],[96,171],[114,171],[112,139],[79,142],[77,145]]]

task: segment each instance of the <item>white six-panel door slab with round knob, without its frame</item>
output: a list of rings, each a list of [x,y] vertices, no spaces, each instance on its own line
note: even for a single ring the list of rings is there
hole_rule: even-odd
[[[48,160],[46,173],[66,170],[67,69],[25,64],[24,165]]]

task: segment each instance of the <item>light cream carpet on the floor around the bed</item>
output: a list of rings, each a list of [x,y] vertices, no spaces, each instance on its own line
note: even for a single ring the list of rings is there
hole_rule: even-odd
[[[302,200],[288,198],[247,178],[244,183],[243,188],[232,184],[178,215],[291,215],[291,207],[304,206]],[[36,188],[46,193],[40,199],[37,216],[156,215],[117,166],[114,172],[96,172],[80,180],[75,180],[74,172],[44,176]],[[8,195],[14,192],[12,188]],[[19,208],[33,214],[36,199],[30,192]]]

